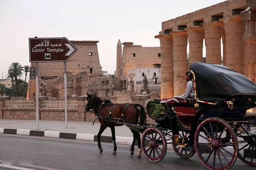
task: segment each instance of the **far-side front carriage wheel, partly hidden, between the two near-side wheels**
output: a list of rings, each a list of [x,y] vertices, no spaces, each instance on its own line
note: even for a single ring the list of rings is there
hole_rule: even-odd
[[[179,143],[188,144],[190,134],[184,131],[179,131],[178,133]],[[190,158],[196,153],[194,146],[185,145],[184,147],[181,147],[178,146],[178,144],[176,144],[175,142],[173,142],[173,149],[175,153],[181,158]]]

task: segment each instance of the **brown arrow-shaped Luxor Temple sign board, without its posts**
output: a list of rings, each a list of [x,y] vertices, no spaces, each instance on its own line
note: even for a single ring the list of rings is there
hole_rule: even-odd
[[[29,38],[30,62],[68,61],[77,48],[67,38]]]

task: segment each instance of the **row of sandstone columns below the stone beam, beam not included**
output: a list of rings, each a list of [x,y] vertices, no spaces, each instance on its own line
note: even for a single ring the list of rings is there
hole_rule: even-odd
[[[170,34],[157,35],[156,38],[160,39],[161,44],[161,98],[184,93],[186,83],[183,86],[181,84],[189,65],[203,61],[204,39],[206,63],[221,64],[222,38],[223,65],[245,74],[255,82],[255,29],[255,20],[246,21],[244,24],[241,15],[236,15],[232,18],[222,18],[220,21],[203,23],[202,26],[191,26],[184,30],[170,31]]]

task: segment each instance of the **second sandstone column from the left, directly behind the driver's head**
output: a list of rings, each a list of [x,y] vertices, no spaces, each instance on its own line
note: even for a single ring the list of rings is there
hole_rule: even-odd
[[[173,36],[174,95],[179,96],[186,90],[186,83],[183,83],[183,81],[185,73],[189,70],[187,62],[188,33],[185,30],[178,30],[171,31],[170,34]],[[183,85],[181,86],[182,83]]]

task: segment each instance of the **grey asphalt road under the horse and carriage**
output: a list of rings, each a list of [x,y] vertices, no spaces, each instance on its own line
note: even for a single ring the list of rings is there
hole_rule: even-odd
[[[149,162],[136,153],[130,156],[130,146],[118,145],[112,155],[113,144],[102,143],[99,153],[96,142],[45,137],[0,135],[0,170],[205,170],[196,154],[181,159],[172,150],[159,163]],[[237,159],[232,170],[252,170],[253,167]]]

